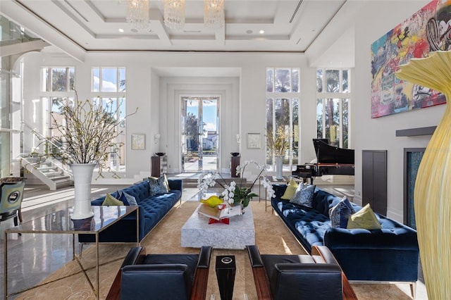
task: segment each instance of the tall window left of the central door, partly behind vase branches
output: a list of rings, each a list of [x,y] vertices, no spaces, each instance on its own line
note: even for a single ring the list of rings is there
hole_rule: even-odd
[[[111,118],[122,120],[116,130],[121,134],[116,138],[120,147],[118,154],[111,152],[109,167],[116,172],[125,171],[125,68],[118,67],[95,67],[92,68],[92,101],[101,101],[105,107],[111,108],[115,115]]]

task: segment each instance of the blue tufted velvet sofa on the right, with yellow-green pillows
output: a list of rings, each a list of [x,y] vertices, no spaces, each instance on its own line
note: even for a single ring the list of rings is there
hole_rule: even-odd
[[[273,185],[271,205],[304,248],[327,246],[348,280],[409,282],[414,294],[419,247],[411,227],[377,215],[381,230],[332,228],[328,217],[342,199],[316,187],[312,208],[280,199],[286,185]],[[361,206],[352,204],[355,211]]]

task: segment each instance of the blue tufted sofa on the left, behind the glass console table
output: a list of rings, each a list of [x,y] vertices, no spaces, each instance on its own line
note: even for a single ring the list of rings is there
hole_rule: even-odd
[[[164,218],[166,213],[182,197],[183,182],[180,179],[168,179],[168,193],[150,196],[149,181],[144,180],[135,185],[122,189],[123,192],[134,196],[139,208],[140,214],[140,242],[149,232]],[[111,196],[117,197],[117,192],[111,193]],[[105,196],[91,201],[92,205],[101,205]],[[91,243],[95,241],[94,235],[78,235],[78,242]],[[136,242],[136,215],[130,215],[117,223],[111,225],[106,230],[100,232],[99,242]]]

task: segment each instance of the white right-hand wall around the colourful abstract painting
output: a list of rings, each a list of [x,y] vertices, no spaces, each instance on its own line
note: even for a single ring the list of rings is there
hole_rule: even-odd
[[[428,1],[367,1],[355,23],[354,144],[355,194],[362,201],[362,150],[388,150],[388,216],[402,221],[404,148],[423,148],[430,136],[395,137],[396,130],[437,125],[445,106],[423,108],[382,118],[371,118],[370,45],[409,18]]]

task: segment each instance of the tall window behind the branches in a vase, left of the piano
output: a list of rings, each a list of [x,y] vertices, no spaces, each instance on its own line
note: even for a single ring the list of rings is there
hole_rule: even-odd
[[[266,69],[266,130],[276,135],[282,127],[289,136],[283,163],[291,170],[299,158],[299,69]],[[275,157],[266,147],[266,164],[275,164]]]

